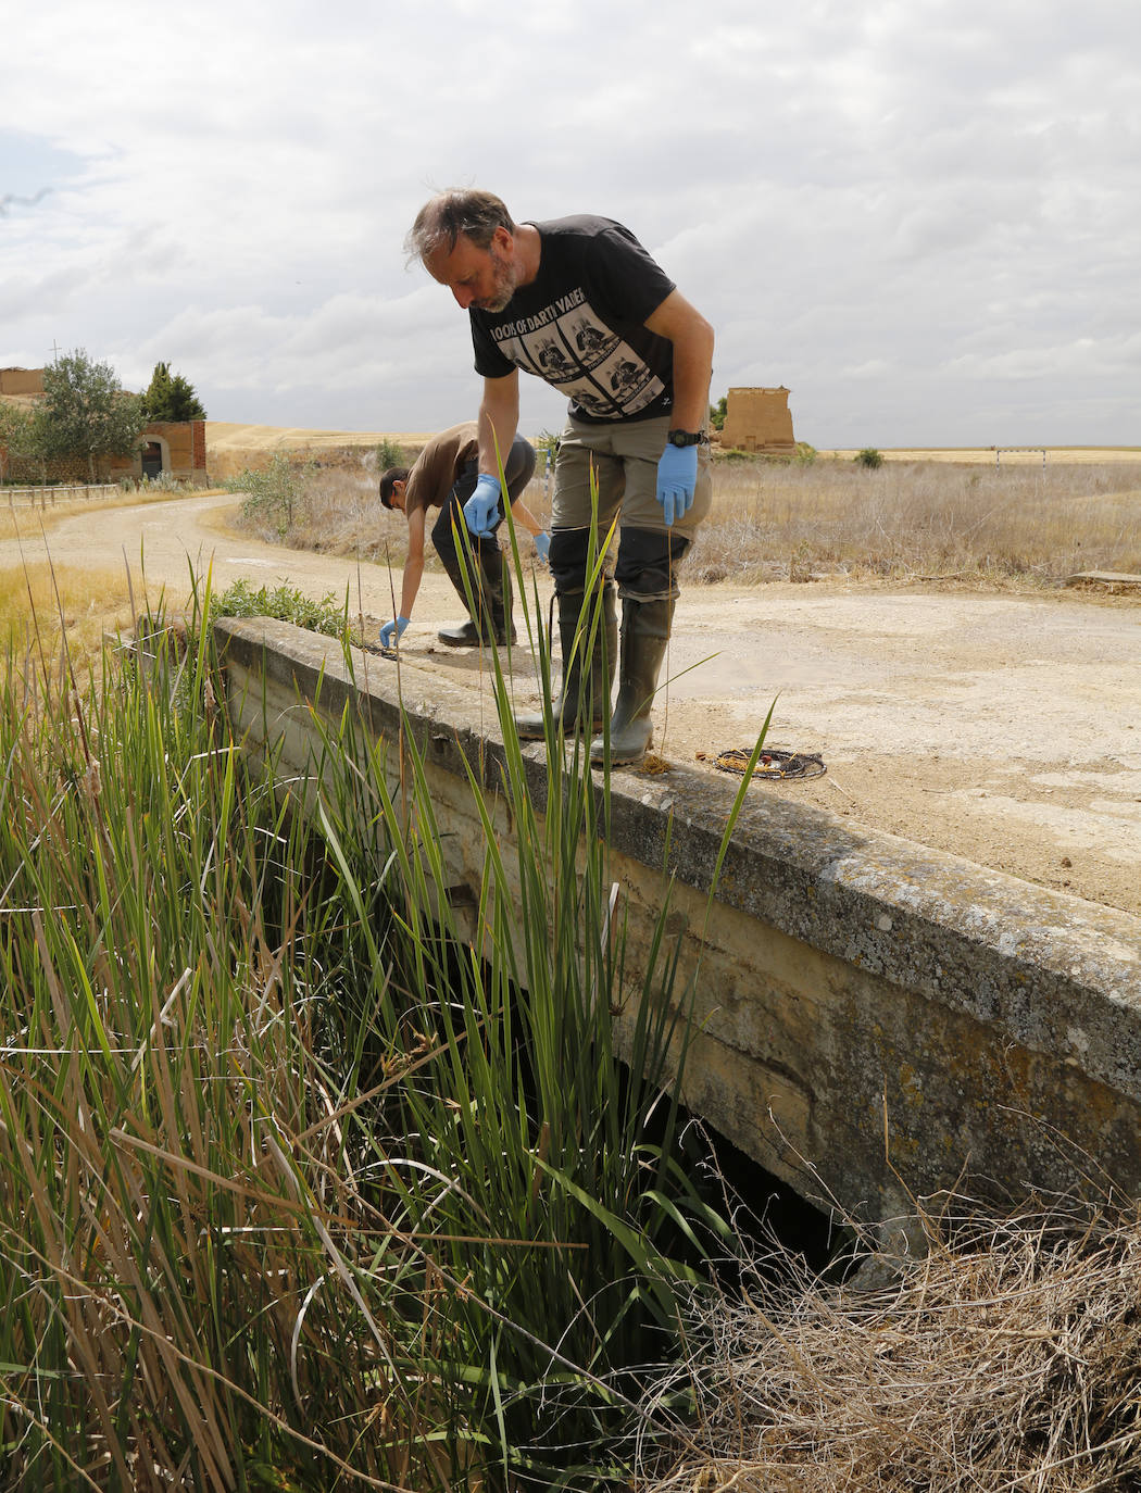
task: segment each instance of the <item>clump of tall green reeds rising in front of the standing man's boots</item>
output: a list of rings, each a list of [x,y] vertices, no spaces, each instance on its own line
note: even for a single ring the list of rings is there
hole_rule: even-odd
[[[585,658],[600,629],[608,537],[588,560],[575,640]],[[502,745],[493,754],[479,745],[464,763],[484,847],[473,930],[447,896],[447,826],[414,735],[372,741],[345,712],[326,727],[320,772],[323,833],[351,903],[345,926],[354,917],[370,926],[352,866],[381,857],[361,833],[378,836],[394,866],[403,978],[373,985],[369,1020],[385,1050],[408,1039],[411,1023],[432,1053],[390,1091],[385,1133],[403,1145],[378,1154],[393,1217],[433,1235],[433,1268],[451,1293],[454,1347],[432,1372],[485,1448],[484,1475],[494,1459],[503,1483],[551,1487],[618,1475],[608,1457],[638,1366],[669,1351],[680,1291],[702,1280],[709,1248],[732,1241],[678,1144],[691,991],[665,932],[669,879],[650,957],[635,969],[611,866],[609,775],[591,773],[588,739],[551,708],[539,617],[533,591],[524,621],[548,721],[538,791],[511,676],[494,649],[484,658]],[[379,966],[369,950],[369,967]],[[361,970],[357,987],[367,979]]]

